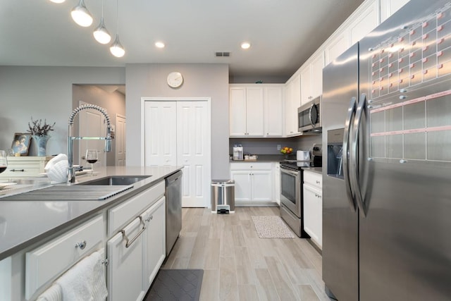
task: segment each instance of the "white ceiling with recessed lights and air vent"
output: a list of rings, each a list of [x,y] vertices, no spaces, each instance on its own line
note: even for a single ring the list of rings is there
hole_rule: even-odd
[[[120,0],[118,59],[92,37],[101,0],[85,0],[91,27],[70,18],[78,0],[2,0],[0,66],[125,66],[126,63],[228,63],[232,77],[289,78],[362,0]],[[104,0],[116,35],[116,1]],[[164,49],[154,42],[163,41]],[[243,41],[251,49],[240,49]],[[216,58],[215,51],[231,51]]]

